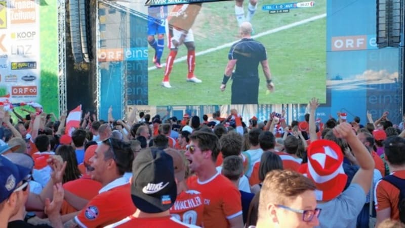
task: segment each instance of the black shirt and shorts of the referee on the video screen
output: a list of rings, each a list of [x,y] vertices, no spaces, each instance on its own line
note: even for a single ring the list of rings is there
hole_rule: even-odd
[[[234,43],[229,60],[237,60],[232,74],[231,104],[257,104],[259,96],[258,66],[267,60],[266,48],[259,41],[244,38]]]

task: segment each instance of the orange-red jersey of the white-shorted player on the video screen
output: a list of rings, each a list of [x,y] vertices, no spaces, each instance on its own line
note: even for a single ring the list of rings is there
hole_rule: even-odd
[[[201,5],[202,3],[176,5],[169,14],[169,25],[184,31],[190,30]]]

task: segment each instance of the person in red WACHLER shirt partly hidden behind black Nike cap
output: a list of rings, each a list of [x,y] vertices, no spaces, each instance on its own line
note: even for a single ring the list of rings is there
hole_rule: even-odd
[[[179,151],[166,149],[165,152],[173,158],[174,176],[177,184],[177,198],[170,208],[170,214],[191,225],[203,225],[204,198],[200,192],[188,190],[185,183],[186,166]]]

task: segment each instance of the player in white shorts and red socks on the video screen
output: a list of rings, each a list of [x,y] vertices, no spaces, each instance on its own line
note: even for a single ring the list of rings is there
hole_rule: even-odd
[[[195,44],[193,31],[191,29],[191,26],[194,24],[195,18],[201,9],[201,4],[202,3],[176,5],[169,14],[168,22],[170,54],[166,60],[165,77],[161,83],[163,87],[172,87],[169,82],[169,76],[172,72],[178,47],[183,43],[187,47],[187,82],[203,82],[194,75]]]

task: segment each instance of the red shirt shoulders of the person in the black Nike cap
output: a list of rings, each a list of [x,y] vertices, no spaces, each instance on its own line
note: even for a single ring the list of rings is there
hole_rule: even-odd
[[[165,228],[183,228],[183,227],[198,227],[195,225],[190,225],[177,220],[174,217],[166,216],[159,218],[136,218],[132,215],[116,222],[114,224],[105,226],[109,227],[121,227],[121,228],[133,228],[133,227],[143,227],[143,228],[155,228],[155,227],[165,227]]]

